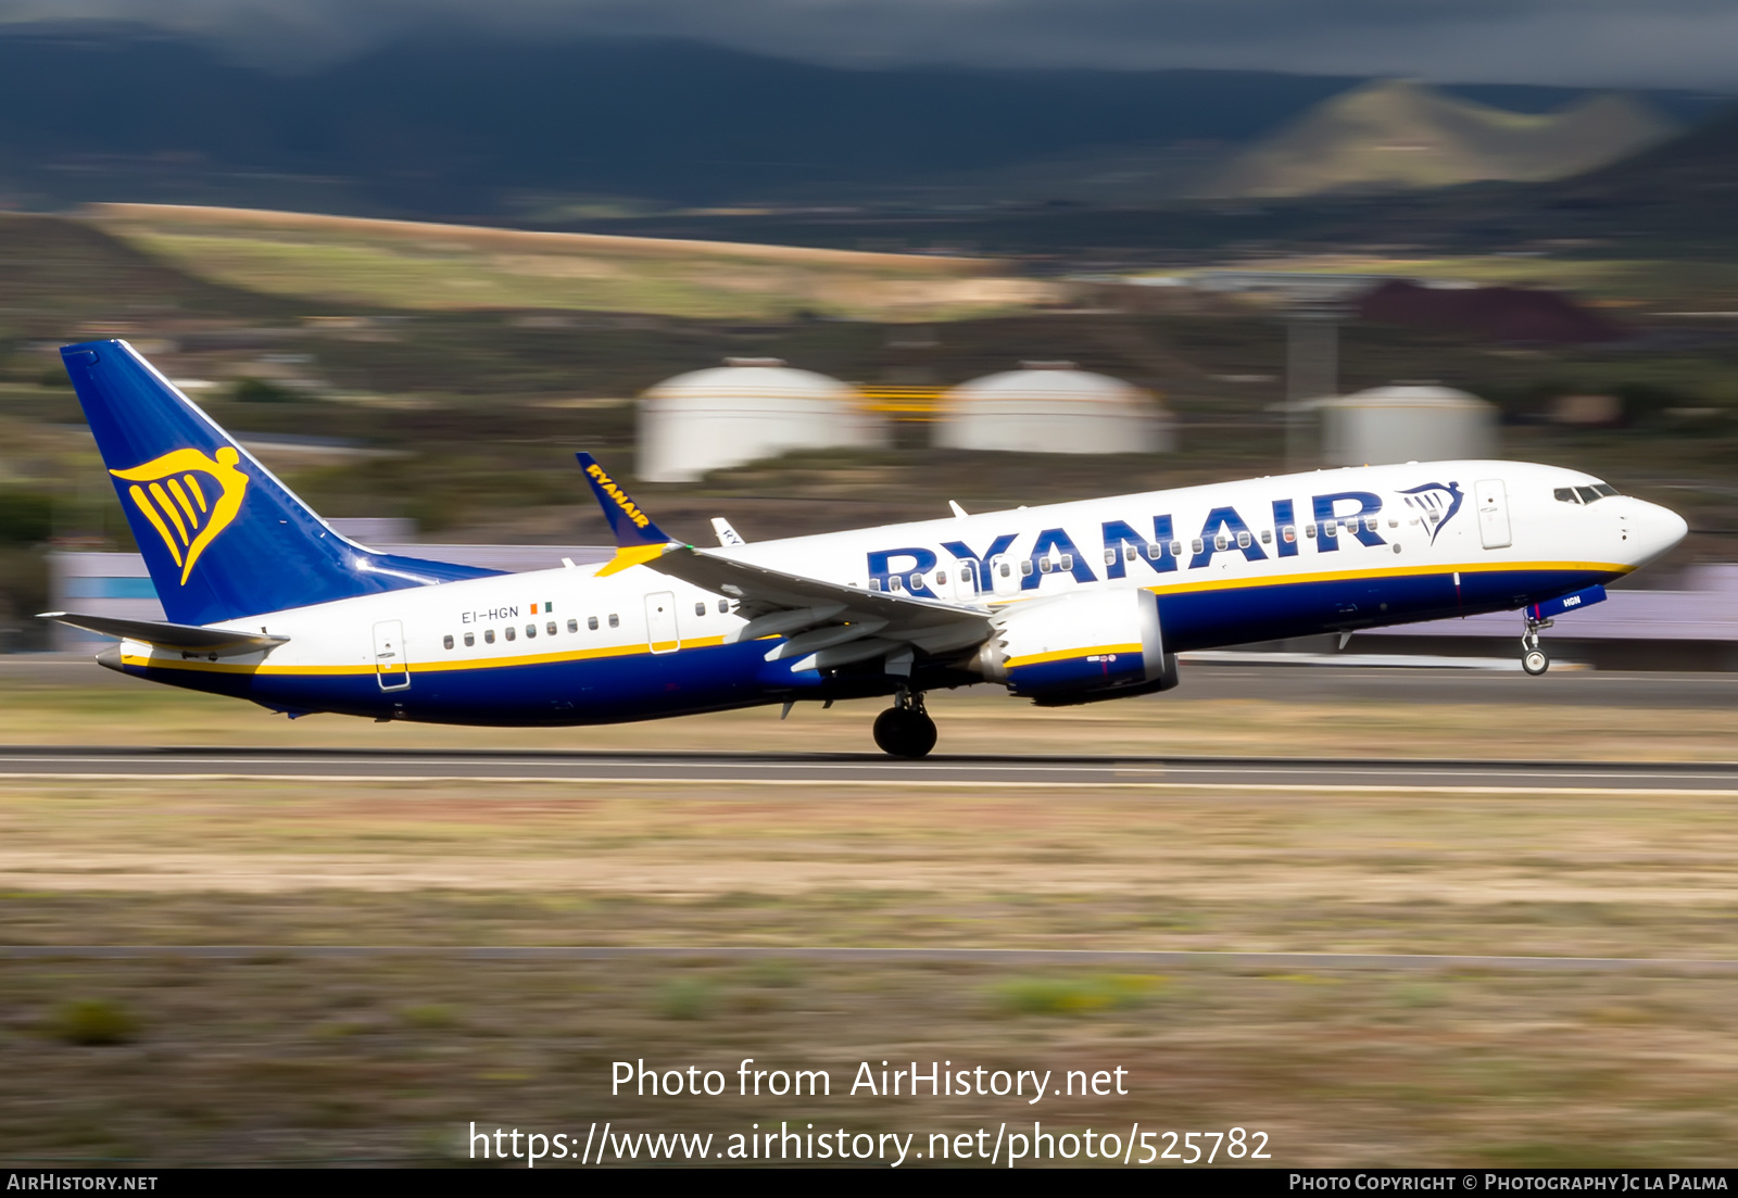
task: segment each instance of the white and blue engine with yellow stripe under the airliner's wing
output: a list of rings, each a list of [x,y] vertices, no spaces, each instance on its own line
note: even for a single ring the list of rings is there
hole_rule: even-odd
[[[1036,702],[1090,702],[1170,690],[1177,656],[1164,652],[1159,600],[1147,589],[1088,591],[1018,603],[994,617],[998,635],[977,668]]]

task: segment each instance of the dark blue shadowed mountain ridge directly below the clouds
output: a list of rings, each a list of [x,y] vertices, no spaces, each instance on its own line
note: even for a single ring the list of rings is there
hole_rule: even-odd
[[[14,26],[0,33],[0,200],[547,226],[721,205],[1152,205],[1364,82],[841,70],[681,42],[487,38],[398,43],[283,77],[162,35]],[[1512,120],[1585,99],[1449,94]],[[1688,92],[1644,99],[1682,125],[1717,106]]]

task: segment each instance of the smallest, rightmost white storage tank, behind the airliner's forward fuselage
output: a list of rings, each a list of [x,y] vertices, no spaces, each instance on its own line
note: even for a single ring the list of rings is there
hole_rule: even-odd
[[[1380,386],[1316,403],[1326,466],[1496,457],[1496,409],[1446,386]]]

